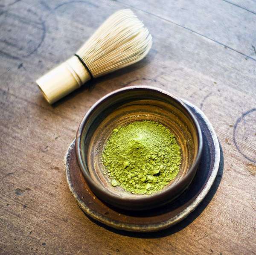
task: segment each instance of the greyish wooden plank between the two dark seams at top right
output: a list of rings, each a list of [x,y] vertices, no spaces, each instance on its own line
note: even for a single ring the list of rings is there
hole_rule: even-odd
[[[253,40],[256,16],[231,2],[198,0],[193,5],[188,5],[187,1],[177,0],[163,8],[164,0],[150,1],[150,5],[137,0],[131,0],[129,3],[124,0],[117,1],[256,60],[253,45],[256,43]]]

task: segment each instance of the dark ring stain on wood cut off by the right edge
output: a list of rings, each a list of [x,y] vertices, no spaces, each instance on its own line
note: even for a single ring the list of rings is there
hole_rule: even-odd
[[[239,117],[234,125],[233,141],[237,150],[250,162],[256,163],[256,108]]]

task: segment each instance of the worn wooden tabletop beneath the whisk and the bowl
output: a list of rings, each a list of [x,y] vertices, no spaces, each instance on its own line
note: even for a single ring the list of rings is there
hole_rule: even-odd
[[[50,106],[35,80],[76,52],[114,11],[131,8],[154,38],[148,57]],[[255,0],[2,0],[0,252],[3,254],[256,253]],[[224,154],[209,195],[159,233],[88,219],[63,157],[88,108],[117,88],[161,87],[200,107]]]

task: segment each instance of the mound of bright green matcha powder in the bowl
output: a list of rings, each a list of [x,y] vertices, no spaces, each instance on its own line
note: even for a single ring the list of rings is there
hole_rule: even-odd
[[[111,185],[136,194],[152,194],[163,189],[177,176],[180,160],[175,136],[154,121],[117,127],[102,153]]]

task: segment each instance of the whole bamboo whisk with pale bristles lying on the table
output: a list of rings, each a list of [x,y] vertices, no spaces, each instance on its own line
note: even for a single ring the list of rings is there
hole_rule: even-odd
[[[86,81],[140,61],[152,45],[148,29],[129,9],[112,14],[66,62],[36,83],[54,103]]]

